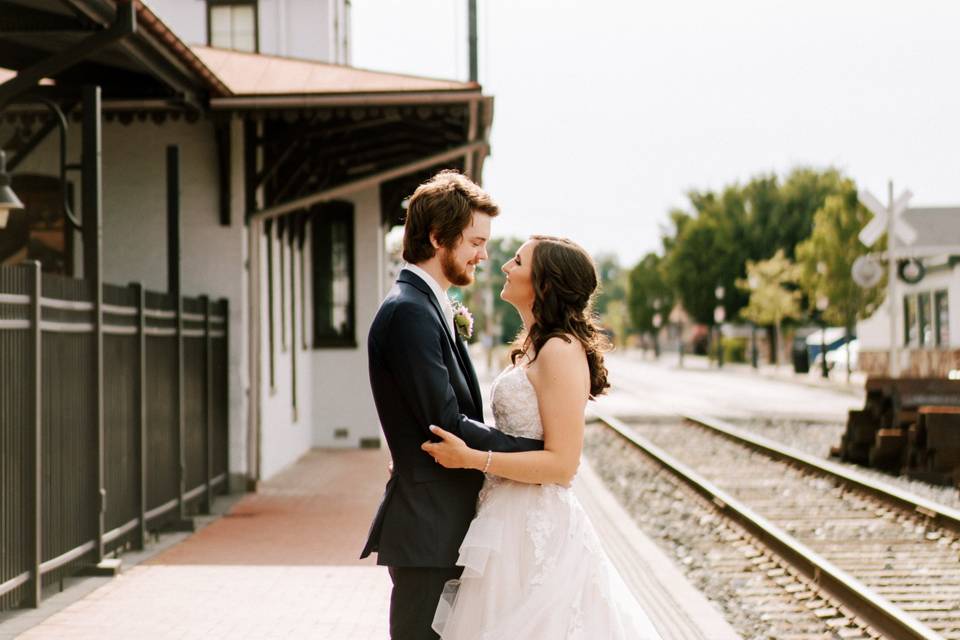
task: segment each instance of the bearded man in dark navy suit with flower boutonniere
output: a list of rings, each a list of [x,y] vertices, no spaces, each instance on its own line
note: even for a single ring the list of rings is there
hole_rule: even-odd
[[[447,298],[473,283],[487,259],[490,220],[500,212],[465,176],[442,171],[410,198],[403,259],[380,306],[367,349],[370,386],[394,468],[361,558],[389,568],[390,637],[433,640],[430,624],[447,580],[459,578],[460,543],[476,510],[483,474],[445,469],[420,449],[436,424],[475,449],[529,451],[539,440],[483,424],[477,375]]]

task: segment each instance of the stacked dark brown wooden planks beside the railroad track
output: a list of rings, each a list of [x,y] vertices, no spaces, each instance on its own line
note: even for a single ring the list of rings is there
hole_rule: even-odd
[[[870,378],[834,453],[843,460],[960,486],[960,380]]]

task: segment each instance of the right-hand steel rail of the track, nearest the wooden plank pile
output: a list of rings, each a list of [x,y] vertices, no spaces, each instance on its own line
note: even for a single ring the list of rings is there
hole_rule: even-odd
[[[828,460],[820,460],[815,456],[798,451],[793,447],[774,442],[769,438],[750,433],[745,429],[739,429],[717,418],[703,415],[683,415],[682,417],[685,420],[700,425],[704,429],[720,434],[729,440],[750,447],[771,458],[795,464],[820,475],[826,475],[832,479],[841,481],[847,487],[868,493],[900,509],[919,513],[929,518],[936,525],[948,529],[955,534],[960,534],[960,510],[937,504],[932,500],[927,500],[909,491],[898,489],[881,480],[869,478],[853,469],[847,469],[842,465]]]

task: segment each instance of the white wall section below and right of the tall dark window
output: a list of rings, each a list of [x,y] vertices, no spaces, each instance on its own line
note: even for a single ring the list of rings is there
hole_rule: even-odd
[[[357,347],[316,349],[313,361],[313,443],[318,447],[356,447],[362,439],[380,439],[380,421],[367,373],[367,333],[380,307],[384,273],[384,229],[379,189],[347,198],[354,203]],[[337,438],[337,429],[347,437]]]

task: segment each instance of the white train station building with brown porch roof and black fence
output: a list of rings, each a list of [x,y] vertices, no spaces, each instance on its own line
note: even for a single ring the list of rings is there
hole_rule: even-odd
[[[481,174],[492,98],[348,66],[345,0],[280,4],[0,2],[3,606],[380,446],[385,235],[435,172]]]

